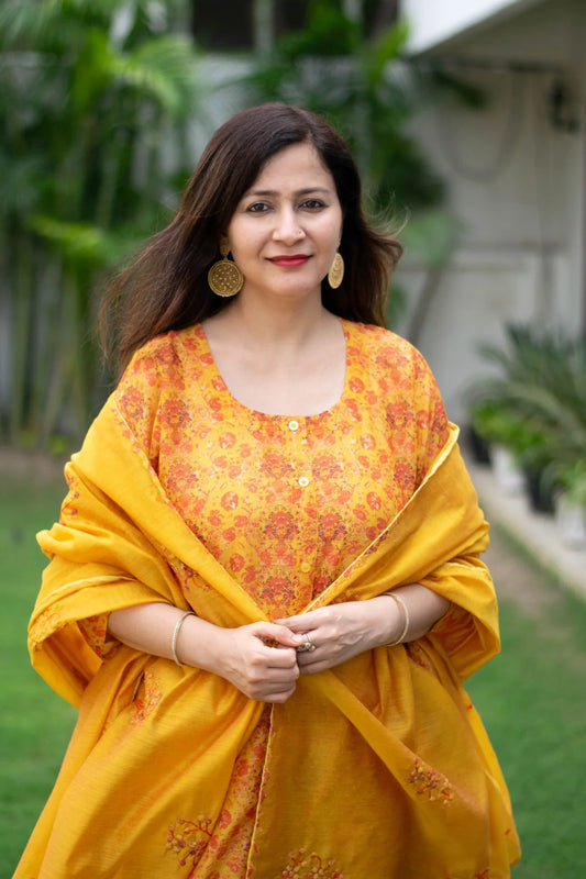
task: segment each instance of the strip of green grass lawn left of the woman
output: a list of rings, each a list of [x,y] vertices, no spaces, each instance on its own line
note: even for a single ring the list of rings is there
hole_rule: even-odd
[[[34,535],[58,515],[63,480],[42,487],[1,477],[0,877],[16,866],[57,774],[75,710],[32,670],[26,625],[45,557]]]

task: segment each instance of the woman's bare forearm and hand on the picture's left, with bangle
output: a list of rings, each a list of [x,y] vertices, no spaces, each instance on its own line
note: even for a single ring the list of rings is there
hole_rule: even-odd
[[[163,602],[123,608],[110,613],[108,631],[136,650],[174,659],[174,633],[184,614]],[[295,648],[302,642],[302,636],[274,623],[222,628],[189,615],[180,624],[175,647],[181,664],[225,678],[250,699],[284,702],[295,691],[299,677]]]

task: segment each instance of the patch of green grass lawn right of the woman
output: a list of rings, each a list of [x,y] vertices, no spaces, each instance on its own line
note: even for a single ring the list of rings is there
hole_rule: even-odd
[[[501,601],[502,653],[468,681],[512,798],[513,879],[586,876],[586,602],[545,588],[534,616]]]

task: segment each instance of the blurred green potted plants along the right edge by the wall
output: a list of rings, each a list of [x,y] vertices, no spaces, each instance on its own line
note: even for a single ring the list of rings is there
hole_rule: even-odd
[[[586,548],[586,340],[510,325],[480,352],[469,392],[472,447],[504,491],[526,491],[568,547]]]

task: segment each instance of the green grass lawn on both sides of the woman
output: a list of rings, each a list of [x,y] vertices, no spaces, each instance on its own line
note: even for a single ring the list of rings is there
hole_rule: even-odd
[[[2,478],[0,879],[12,875],[75,722],[75,711],[31,670],[26,653],[45,563],[34,534],[55,520],[63,493],[63,481],[38,487]],[[554,590],[555,600],[531,615],[501,602],[502,654],[468,690],[513,800],[523,845],[513,879],[576,879],[586,875],[586,602],[544,580],[540,588]]]

